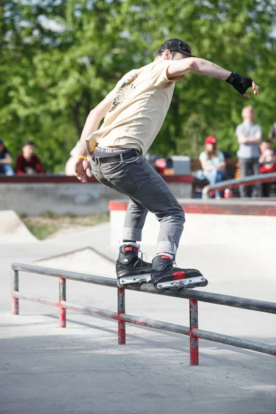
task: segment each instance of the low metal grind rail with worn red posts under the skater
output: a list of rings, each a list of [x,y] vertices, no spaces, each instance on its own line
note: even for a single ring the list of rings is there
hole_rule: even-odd
[[[46,275],[59,278],[59,301],[49,299],[48,297],[28,295],[19,292],[19,270],[22,272],[36,273],[37,275]],[[72,304],[66,301],[66,279],[76,280],[98,284],[101,286],[110,286],[117,288],[117,312],[106,311],[104,309],[92,308],[91,306],[81,306],[80,304]],[[238,337],[221,335],[209,331],[202,331],[198,328],[198,307],[197,302],[208,302],[211,304],[219,304],[231,306],[234,308],[248,309],[250,311],[276,313],[276,303],[264,302],[260,300],[246,299],[244,297],[235,297],[228,295],[219,295],[217,293],[200,292],[199,290],[181,289],[177,292],[165,291],[164,293],[156,293],[151,284],[142,284],[141,287],[128,287],[126,290],[136,290],[144,293],[153,293],[155,295],[180,297],[189,299],[190,302],[190,326],[181,326],[169,324],[167,322],[157,321],[155,319],[146,319],[126,314],[125,306],[125,289],[117,287],[117,280],[109,277],[99,277],[94,275],[86,275],[83,273],[69,272],[67,270],[58,270],[52,268],[44,268],[40,266],[32,266],[28,264],[12,264],[12,314],[19,315],[19,299],[26,299],[32,302],[57,306],[59,308],[59,327],[66,328],[66,309],[73,311],[81,311],[100,317],[108,317],[118,321],[118,344],[126,344],[126,322],[139,326],[148,326],[162,331],[173,333],[181,333],[190,337],[190,365],[199,364],[199,342],[198,339],[207,339],[208,341],[220,342],[238,346],[239,348],[250,349],[269,355],[276,356],[276,346],[262,344],[260,342],[250,341]]]

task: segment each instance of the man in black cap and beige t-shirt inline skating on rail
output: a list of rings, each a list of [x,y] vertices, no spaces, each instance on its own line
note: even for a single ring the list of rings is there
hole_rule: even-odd
[[[90,111],[81,133],[76,177],[86,183],[91,166],[98,181],[130,198],[116,264],[119,286],[152,282],[157,292],[163,292],[208,284],[199,270],[175,267],[185,214],[166,182],[144,158],[164,122],[175,82],[188,82],[189,72],[226,81],[244,97],[250,97],[248,88],[258,94],[259,87],[252,79],[193,56],[181,39],[168,39],[151,63],[126,73]],[[87,152],[92,155],[90,166]],[[148,211],[160,224],[152,263],[139,256],[137,244]]]

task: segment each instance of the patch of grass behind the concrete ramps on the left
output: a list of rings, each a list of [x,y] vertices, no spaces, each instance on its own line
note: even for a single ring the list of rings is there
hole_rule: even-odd
[[[19,214],[26,227],[30,230],[37,239],[43,240],[52,235],[61,228],[70,228],[72,226],[95,226],[96,224],[109,221],[109,214],[95,214],[90,216],[80,217],[77,215],[54,215],[50,212],[45,213],[39,217],[26,217],[26,215]]]

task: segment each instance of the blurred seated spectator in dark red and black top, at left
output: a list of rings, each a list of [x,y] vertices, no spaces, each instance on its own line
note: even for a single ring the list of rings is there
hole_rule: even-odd
[[[18,175],[44,174],[43,166],[37,155],[34,155],[34,143],[27,141],[22,147],[22,154],[17,157],[15,172]]]

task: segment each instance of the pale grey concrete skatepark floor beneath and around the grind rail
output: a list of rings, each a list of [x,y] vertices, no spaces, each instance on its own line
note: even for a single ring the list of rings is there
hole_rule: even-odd
[[[101,224],[44,242],[24,233],[1,244],[0,413],[275,414],[276,358],[270,355],[200,339],[199,366],[190,366],[188,337],[181,335],[127,324],[127,344],[119,346],[117,323],[109,319],[68,312],[61,329],[57,308],[23,300],[20,315],[11,315],[12,262],[115,277],[112,262],[88,248],[116,259],[109,234],[110,225]],[[274,257],[259,250],[259,242],[241,251],[200,238],[189,246],[185,233],[182,239],[177,264],[200,268],[210,282],[204,290],[275,302]],[[63,256],[77,249],[83,250]],[[152,246],[144,250],[155,253]],[[115,289],[72,281],[67,286],[70,302],[116,311]],[[19,273],[19,289],[58,298],[51,277]],[[126,311],[188,325],[185,299],[127,291]],[[199,327],[276,342],[275,315],[265,313],[201,302]]]

